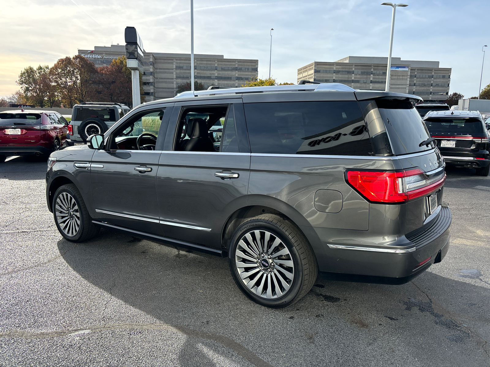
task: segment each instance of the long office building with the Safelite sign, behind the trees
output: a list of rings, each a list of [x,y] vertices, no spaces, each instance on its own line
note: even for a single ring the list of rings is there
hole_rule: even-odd
[[[113,59],[125,55],[125,45],[95,46],[78,50],[96,67],[108,66]],[[194,77],[207,89],[211,85],[237,88],[258,76],[259,61],[225,59],[223,55],[194,54]],[[177,86],[191,82],[191,54],[144,52],[143,88],[146,100],[171,98]]]

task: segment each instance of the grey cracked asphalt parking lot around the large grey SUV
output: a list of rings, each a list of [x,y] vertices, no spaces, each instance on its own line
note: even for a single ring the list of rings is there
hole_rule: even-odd
[[[447,169],[451,247],[404,285],[249,301],[226,259],[104,229],[65,241],[46,161],[0,163],[0,366],[489,366],[490,177]]]

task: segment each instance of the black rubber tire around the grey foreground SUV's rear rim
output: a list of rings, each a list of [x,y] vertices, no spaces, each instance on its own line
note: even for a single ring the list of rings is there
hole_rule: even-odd
[[[257,230],[259,232],[254,232]],[[251,232],[253,232],[253,234]],[[258,260],[256,260],[256,263],[253,263],[241,257],[239,255],[240,252],[237,253],[239,242],[241,242],[241,240],[245,238],[247,234],[249,236],[253,236],[253,238],[256,239],[257,238],[256,233],[260,233],[261,239],[259,241],[262,241],[262,246],[266,248],[265,251],[266,255],[270,253],[272,256],[274,256],[275,253],[285,251],[285,250],[276,251],[274,249],[274,250],[269,250],[269,252],[267,252],[267,248],[270,249],[273,248],[272,247],[273,241],[275,241],[274,237],[269,237],[270,238],[268,242],[269,246],[267,245],[264,246],[264,243],[266,242],[264,240],[264,236],[266,235],[267,232],[269,232],[270,235],[273,235],[275,236],[275,238],[280,240],[281,244],[278,245],[277,247],[278,249],[287,248],[289,253],[285,256],[288,256],[288,259],[290,259],[287,261],[288,263],[291,263],[292,260],[292,264],[294,265],[293,269],[288,266],[283,266],[281,264],[276,264],[275,267],[273,267],[272,264],[272,262],[274,262],[273,260],[279,261],[281,260],[280,258],[284,256],[279,256],[279,258],[272,257],[272,259],[266,260],[267,258],[270,258],[270,256],[263,257],[261,254],[258,254],[257,256]],[[277,284],[280,284],[280,279],[277,275],[279,272],[276,272],[276,270],[278,270],[277,269],[278,267],[286,268],[287,270],[293,273],[293,279],[289,284],[289,289],[287,291],[280,289],[280,291],[283,292],[281,296],[278,296],[276,293],[277,296],[276,298],[270,298],[267,295],[268,290],[267,291],[263,290],[262,285],[265,288],[269,288],[269,286],[267,285],[269,279],[266,278],[266,276],[268,276],[268,273],[266,272],[266,266],[262,268],[263,260],[266,260],[266,262],[267,261],[270,262],[270,264],[267,266],[268,268],[267,272],[271,272],[269,276],[272,276],[272,278],[275,277],[275,279],[277,280]],[[230,265],[231,274],[233,275],[233,278],[235,279],[237,286],[245,294],[245,296],[260,305],[270,307],[270,308],[283,308],[297,302],[299,299],[303,298],[311,290],[318,276],[317,259],[305,235],[301,232],[301,230],[296,225],[294,225],[294,223],[290,222],[286,218],[283,218],[275,214],[259,215],[255,218],[247,220],[238,229],[236,229],[230,242],[228,261]],[[254,273],[253,275],[254,277],[255,276],[258,277],[256,277],[255,280],[250,280],[248,283],[248,284],[252,284],[252,286],[250,286],[252,290],[250,290],[247,287],[247,285],[245,285],[246,279],[245,280],[241,279],[239,269],[243,269],[243,267],[239,267],[239,266],[237,267],[236,265],[237,261],[241,264],[243,264],[243,262],[247,262],[248,266],[250,266],[250,264],[252,264],[251,266],[255,266],[255,267],[260,266],[260,270],[258,270],[257,273]],[[283,263],[286,262],[284,262],[283,260]],[[252,267],[252,268],[245,268],[245,269],[255,269],[255,268]],[[243,270],[244,273],[245,273],[245,269]],[[244,275],[244,273],[241,273],[242,276]],[[247,270],[246,273],[250,273],[250,271]],[[262,273],[262,275],[260,275],[259,273]],[[249,279],[251,279],[251,277],[252,275],[250,275]],[[268,280],[263,281],[262,278]],[[285,279],[286,281],[290,281],[287,279],[287,277],[284,276],[283,279]],[[277,285],[274,285],[273,283],[274,282],[271,281],[271,288],[276,289]],[[257,292],[264,292],[264,293],[262,294],[262,296],[259,296]],[[272,296],[274,294],[273,292],[274,291],[272,290],[271,291]]]

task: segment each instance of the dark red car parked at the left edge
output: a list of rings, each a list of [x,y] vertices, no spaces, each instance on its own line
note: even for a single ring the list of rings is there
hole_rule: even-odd
[[[54,111],[0,113],[0,162],[8,156],[49,156],[66,146],[68,121]]]

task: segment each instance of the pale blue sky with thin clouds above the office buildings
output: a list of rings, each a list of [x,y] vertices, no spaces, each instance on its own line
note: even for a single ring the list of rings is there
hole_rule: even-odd
[[[371,0],[194,0],[194,51],[259,60],[259,77],[296,82],[297,69],[345,56],[388,56],[392,7]],[[490,1],[406,0],[393,57],[452,68],[450,93],[478,94],[482,46],[490,51]],[[134,26],[149,52],[190,53],[190,0],[0,0],[0,96],[16,92],[27,66],[77,49],[124,44]],[[490,83],[490,53],[482,88]]]

